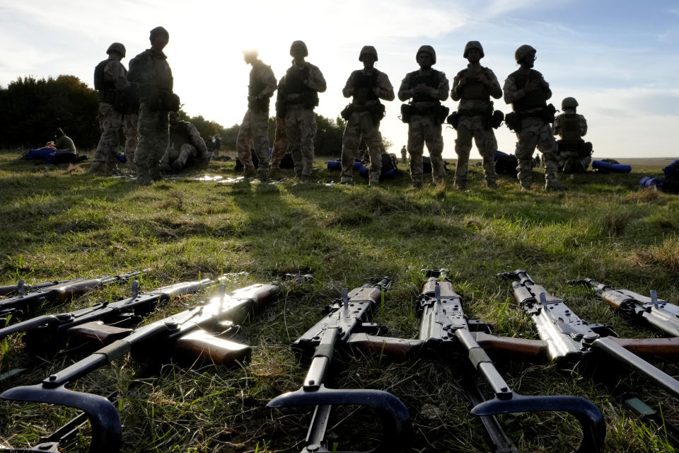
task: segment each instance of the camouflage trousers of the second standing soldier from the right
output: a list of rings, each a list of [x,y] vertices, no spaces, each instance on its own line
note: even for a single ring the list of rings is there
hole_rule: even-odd
[[[455,154],[458,155],[458,165],[455,166],[455,185],[464,187],[467,184],[472,138],[481,154],[481,165],[486,182],[492,184],[497,179],[494,161],[497,139],[492,128],[486,128],[484,123],[485,118],[482,116],[463,117],[458,122],[458,138],[455,140]]]

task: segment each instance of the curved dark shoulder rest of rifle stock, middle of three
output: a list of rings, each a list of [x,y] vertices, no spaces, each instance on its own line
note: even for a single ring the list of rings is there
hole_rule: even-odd
[[[299,389],[273,398],[267,407],[330,406],[352,404],[366,406],[381,413],[384,421],[382,443],[372,452],[393,452],[407,435],[410,428],[410,413],[393,394],[371,389],[327,389],[323,384],[315,391]]]

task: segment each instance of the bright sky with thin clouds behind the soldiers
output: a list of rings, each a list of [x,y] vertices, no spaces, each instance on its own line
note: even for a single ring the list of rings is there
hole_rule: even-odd
[[[342,88],[362,67],[362,46],[377,48],[376,67],[397,91],[417,69],[420,45],[434,47],[434,68],[452,85],[467,64],[465,43],[478,40],[481,64],[500,85],[518,68],[516,48],[535,47],[550,102],[559,109],[563,98],[577,99],[595,157],[679,157],[679,2],[670,0],[0,0],[0,86],[59,74],[93,86],[112,42],[127,47],[127,66],[150,47],[157,25],[170,33],[165,53],[183,109],[225,127],[240,123],[247,108],[244,49],[257,48],[280,79],[291,42],[306,42],[307,61],[327,81],[316,112],[335,118],[350,101]],[[385,105],[381,131],[398,153],[407,125],[398,118],[400,101]],[[452,111],[457,103],[445,105]],[[502,99],[495,108],[511,111]],[[443,156],[454,158],[455,131],[443,126]],[[515,134],[503,125],[496,136],[501,151],[514,151]],[[479,157],[475,147],[471,157]]]

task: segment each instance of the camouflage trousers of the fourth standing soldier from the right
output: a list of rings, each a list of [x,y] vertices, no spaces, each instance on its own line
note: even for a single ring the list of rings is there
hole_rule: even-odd
[[[344,134],[342,135],[342,179],[340,182],[352,182],[354,159],[361,139],[368,144],[370,156],[369,183],[370,185],[377,185],[380,183],[380,173],[382,172],[382,134],[380,133],[380,123],[375,124],[373,116],[368,111],[352,113],[347,121],[347,127],[344,127]]]

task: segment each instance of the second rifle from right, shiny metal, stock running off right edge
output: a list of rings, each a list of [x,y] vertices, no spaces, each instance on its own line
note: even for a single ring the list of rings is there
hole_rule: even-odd
[[[555,361],[591,360],[597,353],[613,357],[679,396],[679,382],[657,369],[639,355],[662,355],[676,359],[679,338],[616,338],[615,332],[600,324],[588,324],[571,311],[562,299],[530,279],[525,270],[498,274],[510,280],[514,299],[530,316],[538,334],[548,345]],[[634,353],[633,353],[634,352]]]

